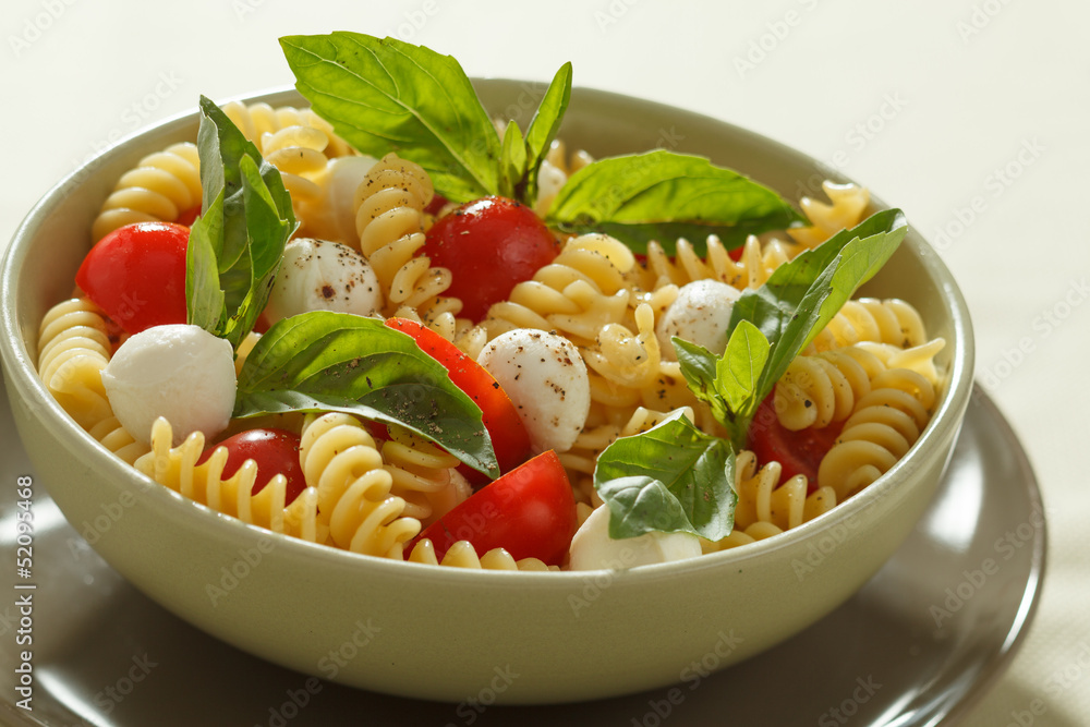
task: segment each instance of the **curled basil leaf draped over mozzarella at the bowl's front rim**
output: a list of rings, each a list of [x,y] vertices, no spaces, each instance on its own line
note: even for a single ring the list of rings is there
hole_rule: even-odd
[[[718,541],[734,526],[735,455],[680,412],[622,437],[598,457],[594,487],[609,508],[609,536],[687,532]]]

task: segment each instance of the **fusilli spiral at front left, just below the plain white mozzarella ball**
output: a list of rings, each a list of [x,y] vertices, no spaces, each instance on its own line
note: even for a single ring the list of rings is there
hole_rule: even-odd
[[[197,463],[205,449],[205,438],[194,432],[172,447],[173,432],[161,416],[152,425],[152,449],[135,462],[137,470],[159,484],[195,502],[239,520],[292,535],[312,543],[325,543],[327,529],[317,519],[317,492],[305,488],[291,505],[286,505],[288,481],[275,474],[256,495],[252,494],[257,465],[247,460],[234,474],[223,476],[228,451],[217,447],[204,462]]]

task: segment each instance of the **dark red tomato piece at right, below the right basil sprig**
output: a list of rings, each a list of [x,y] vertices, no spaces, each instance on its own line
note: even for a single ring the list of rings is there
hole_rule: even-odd
[[[783,465],[780,482],[797,474],[807,475],[807,490],[812,493],[820,486],[818,468],[840,436],[843,423],[834,422],[821,428],[807,427],[792,432],[780,425],[776,417],[774,397],[775,390],[758,407],[747,434],[747,446],[762,465],[773,461]]]

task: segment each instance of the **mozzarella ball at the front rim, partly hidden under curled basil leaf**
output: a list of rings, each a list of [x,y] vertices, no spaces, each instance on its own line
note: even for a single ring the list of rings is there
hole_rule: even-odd
[[[609,506],[602,505],[571,538],[569,567],[617,570],[695,558],[701,553],[700,538],[692,533],[645,533],[616,541],[609,537]]]

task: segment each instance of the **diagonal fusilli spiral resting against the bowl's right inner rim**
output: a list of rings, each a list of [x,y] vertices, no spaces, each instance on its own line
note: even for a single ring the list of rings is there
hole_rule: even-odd
[[[879,374],[822,459],[818,481],[843,500],[877,480],[919,439],[934,402],[934,387],[922,375],[906,368]]]

